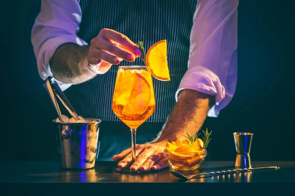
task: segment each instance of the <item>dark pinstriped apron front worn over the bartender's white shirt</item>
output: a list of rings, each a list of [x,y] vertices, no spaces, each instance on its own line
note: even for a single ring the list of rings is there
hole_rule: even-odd
[[[197,0],[80,0],[82,22],[78,36],[89,44],[102,28],[114,29],[134,43],[143,41],[146,51],[154,43],[167,40],[171,81],[153,78],[156,110],[147,123],[165,122],[175,105],[175,93],[187,70],[196,3]],[[143,65],[143,61],[137,58],[133,63],[122,61],[120,65]],[[105,122],[120,121],[112,111],[117,71],[118,66],[112,66],[107,73],[65,91],[79,115]]]

